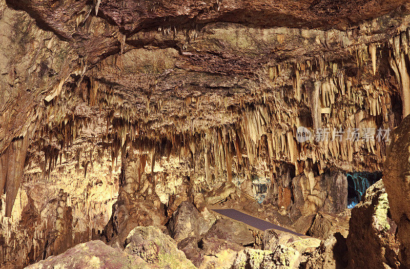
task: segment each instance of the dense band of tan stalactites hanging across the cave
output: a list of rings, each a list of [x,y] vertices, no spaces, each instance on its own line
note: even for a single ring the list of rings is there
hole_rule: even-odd
[[[98,12],[98,4],[98,1],[94,3],[96,12]],[[406,57],[410,59],[408,35],[406,30],[390,41],[391,55],[389,56],[389,63],[400,82],[404,116],[410,113],[410,72],[407,69],[408,64],[406,65],[408,61]],[[365,61],[371,61],[373,74],[376,74],[377,49],[380,46],[382,45],[370,44],[366,47],[351,48],[352,55],[357,59],[357,66],[363,66]],[[74,72],[81,77],[86,70],[86,62],[83,61],[81,60],[78,70]],[[344,130],[393,128],[394,122],[389,115],[392,112],[392,91],[388,89],[389,86],[383,79],[374,80],[367,85],[355,84],[355,78],[348,76],[340,67],[340,63],[330,60],[330,55],[327,54],[314,59],[269,67],[268,76],[269,81],[279,88],[289,86],[289,81],[292,81],[292,94],[289,96],[282,91],[281,96],[276,96],[277,92],[270,93],[270,96],[261,91],[263,93],[261,104],[243,105],[241,102],[236,123],[209,128],[209,130],[182,130],[180,125],[175,123],[177,121],[169,125],[160,125],[158,121],[150,122],[150,113],[161,110],[163,104],[160,99],[157,104],[152,104],[149,98],[146,100],[145,120],[141,121],[139,107],[136,109],[123,104],[124,100],[114,93],[113,88],[102,84],[97,79],[90,77],[89,81],[84,80],[77,86],[81,97],[88,102],[89,106],[111,109],[107,117],[107,131],[96,141],[100,139],[104,151],[111,155],[112,168],[117,166],[119,155],[121,158],[125,157],[127,146],[134,144],[141,150],[144,148],[150,152],[157,152],[158,156],[170,154],[180,156],[181,149],[185,149],[184,152],[194,156],[192,158],[194,161],[203,160],[207,181],[212,177],[219,178],[222,174],[226,174],[228,180],[232,180],[232,166],[242,167],[243,156],[251,165],[264,158],[272,164],[283,161],[293,163],[297,168],[303,167],[306,160],[311,160],[319,164],[320,171],[326,165],[336,162],[352,162],[356,156],[362,163],[362,167],[373,165],[372,169],[380,169],[384,155],[383,142],[335,139],[298,143],[296,130],[299,126],[303,126],[315,133],[320,128],[329,128],[332,137],[335,128]],[[64,92],[67,79],[62,79],[45,98],[47,109],[40,117],[46,122],[44,128],[36,133],[38,149],[45,153],[43,173],[50,173],[56,166],[58,156],[61,160],[60,151],[64,147],[72,146],[83,126],[90,121],[90,118],[78,116],[73,109],[60,104],[58,96]],[[252,93],[259,94],[257,91]],[[191,96],[186,100],[187,106],[190,102],[189,98]],[[292,100],[292,104],[295,105],[293,111],[289,111],[289,107],[280,102],[283,98]],[[224,100],[221,103],[227,102]],[[299,109],[303,109],[304,106],[310,110],[310,117],[299,112]],[[381,120],[378,119],[380,116]],[[158,132],[158,129],[165,131]],[[45,142],[45,137],[48,137],[48,142]],[[13,143],[17,141],[19,139]],[[372,153],[374,155],[372,158],[376,161],[370,161],[366,154],[356,154],[359,152]],[[5,159],[7,154],[8,151],[3,154],[2,159]],[[197,158],[197,155],[204,157]],[[2,173],[5,174],[6,170],[8,171],[2,168]],[[298,169],[298,172],[301,172],[301,169]],[[6,176],[9,177],[9,174],[12,173],[7,173]],[[0,176],[5,181],[5,176]]]

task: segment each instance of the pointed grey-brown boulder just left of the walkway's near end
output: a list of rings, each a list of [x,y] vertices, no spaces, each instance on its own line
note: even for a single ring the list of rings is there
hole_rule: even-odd
[[[172,238],[180,241],[206,233],[211,225],[212,223],[207,222],[192,203],[183,201],[172,214],[168,230]]]

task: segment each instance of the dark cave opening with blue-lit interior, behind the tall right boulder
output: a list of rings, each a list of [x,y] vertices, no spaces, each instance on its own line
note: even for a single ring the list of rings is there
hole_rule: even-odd
[[[347,173],[347,208],[352,209],[358,204],[366,190],[381,179],[381,172]]]

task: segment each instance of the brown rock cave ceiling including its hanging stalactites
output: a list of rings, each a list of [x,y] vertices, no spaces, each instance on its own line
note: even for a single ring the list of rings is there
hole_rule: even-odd
[[[410,112],[405,0],[0,3],[6,192],[31,157],[47,174],[84,144],[113,165],[127,145],[185,147],[207,179],[242,155],[379,171],[384,141],[298,143],[296,129],[393,129]]]

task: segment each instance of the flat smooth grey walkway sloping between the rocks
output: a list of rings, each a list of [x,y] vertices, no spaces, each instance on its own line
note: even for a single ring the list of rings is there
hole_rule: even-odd
[[[269,230],[269,229],[275,229],[275,230],[279,230],[279,231],[282,231],[282,232],[288,232],[288,233],[291,233],[291,234],[294,234],[294,235],[297,235],[297,236],[305,237],[305,235],[302,235],[302,234],[296,233],[294,231],[285,229],[285,228],[283,228],[281,226],[278,226],[278,225],[275,225],[271,222],[264,221],[262,219],[252,217],[251,215],[242,213],[242,212],[237,211],[235,209],[213,209],[213,211],[215,211],[216,213],[219,213],[223,216],[227,216],[231,219],[234,219],[234,220],[243,222],[245,224],[248,224],[248,225],[250,225],[252,227],[255,227],[256,229],[259,229],[261,231],[265,231],[265,230]]]

